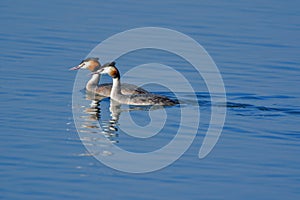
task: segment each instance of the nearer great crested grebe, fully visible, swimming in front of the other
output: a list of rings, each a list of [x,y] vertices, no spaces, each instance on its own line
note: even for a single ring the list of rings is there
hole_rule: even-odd
[[[115,62],[107,64],[98,69],[93,74],[108,74],[113,79],[110,98],[121,103],[129,105],[161,105],[161,106],[173,106],[178,104],[178,101],[169,99],[168,97],[156,95],[152,93],[146,94],[125,94],[121,90],[120,73],[115,66]]]

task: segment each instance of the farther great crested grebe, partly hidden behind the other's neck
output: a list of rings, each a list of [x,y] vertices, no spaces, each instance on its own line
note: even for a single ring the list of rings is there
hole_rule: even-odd
[[[108,66],[110,63],[104,64],[102,67]],[[87,58],[83,60],[78,66],[70,68],[70,70],[88,69],[91,72],[95,72],[101,68],[99,58]],[[91,79],[87,82],[85,88],[89,92],[96,93],[101,96],[109,97],[112,84],[104,83],[99,85],[100,74],[94,73]],[[148,91],[140,88],[136,85],[124,83],[121,86],[123,94],[147,94]]]

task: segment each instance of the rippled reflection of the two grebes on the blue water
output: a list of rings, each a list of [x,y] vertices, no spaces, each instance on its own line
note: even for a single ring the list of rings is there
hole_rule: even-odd
[[[104,99],[106,99],[104,101]],[[121,106],[107,97],[86,93],[81,105],[77,105],[80,116],[74,116],[79,123],[78,133],[81,141],[88,147],[88,154],[112,155],[110,146],[119,143],[118,126],[122,113],[131,111],[154,111],[164,109],[162,106]]]

